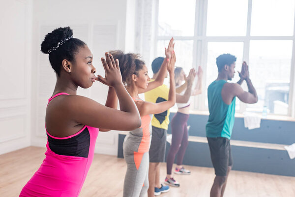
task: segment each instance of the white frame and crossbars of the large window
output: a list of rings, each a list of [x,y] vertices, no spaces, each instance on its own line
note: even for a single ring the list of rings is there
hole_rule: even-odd
[[[251,40],[292,40],[292,58],[291,58],[291,73],[290,73],[290,91],[289,91],[289,106],[287,115],[279,116],[292,116],[295,118],[295,20],[294,30],[292,36],[251,36],[251,14],[252,14],[252,0],[248,0],[247,10],[247,28],[245,36],[207,36],[207,5],[208,0],[196,0],[195,7],[195,29],[194,36],[174,36],[175,40],[193,40],[193,65],[192,67],[202,66],[203,68],[203,94],[194,98],[193,110],[208,111],[207,106],[204,104],[206,100],[207,84],[207,44],[208,42],[243,42],[243,57],[242,60],[249,62],[249,50]],[[154,57],[157,56],[157,42],[159,40],[169,40],[170,36],[158,35],[158,12],[159,12],[159,0],[155,6],[155,39],[154,39]],[[295,9],[295,8],[294,8]],[[237,113],[246,111],[246,103],[240,102],[240,108]],[[275,115],[275,114],[274,114]]]

